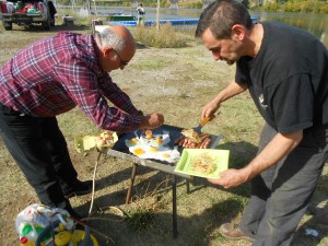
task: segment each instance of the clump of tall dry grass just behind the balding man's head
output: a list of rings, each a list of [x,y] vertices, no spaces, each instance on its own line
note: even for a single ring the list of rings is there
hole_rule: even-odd
[[[181,48],[186,47],[186,38],[174,31],[171,23],[156,26],[137,26],[133,31],[134,38],[147,45],[156,48]]]

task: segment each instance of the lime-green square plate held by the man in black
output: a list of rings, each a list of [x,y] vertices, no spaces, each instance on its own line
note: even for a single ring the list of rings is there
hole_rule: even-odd
[[[192,166],[195,160],[199,159],[202,154],[209,156],[214,164],[213,172],[209,174],[197,171]],[[175,167],[175,172],[204,178],[219,178],[219,173],[227,169],[229,155],[229,150],[184,149],[181,157]]]

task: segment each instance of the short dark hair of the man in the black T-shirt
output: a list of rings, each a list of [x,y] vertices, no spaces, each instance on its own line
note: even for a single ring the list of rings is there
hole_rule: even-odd
[[[246,7],[235,0],[215,0],[201,13],[195,36],[201,37],[210,28],[215,38],[231,38],[235,24],[242,24],[248,30],[251,27]]]

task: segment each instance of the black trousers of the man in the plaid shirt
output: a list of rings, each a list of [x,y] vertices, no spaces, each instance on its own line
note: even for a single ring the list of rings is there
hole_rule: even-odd
[[[0,136],[43,204],[66,208],[62,190],[77,180],[56,117],[31,117],[0,103]]]

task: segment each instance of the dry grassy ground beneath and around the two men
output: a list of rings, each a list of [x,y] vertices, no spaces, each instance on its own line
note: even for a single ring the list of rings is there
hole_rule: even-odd
[[[54,35],[62,28],[65,27],[57,26],[55,31],[48,33],[38,28],[31,31],[16,26],[11,32],[0,28],[0,65],[33,40]],[[72,30],[89,32],[85,26],[75,26]],[[223,62],[218,66],[213,62],[210,54],[197,44],[190,44],[190,47],[181,49],[154,49],[139,44],[136,57],[130,65],[122,71],[114,71],[112,77],[140,109],[145,113],[164,113],[165,124],[187,128],[197,125],[202,105],[225,86],[229,79],[233,77],[233,67],[227,67]],[[209,124],[206,131],[213,134],[223,133],[234,143],[230,143],[230,147],[235,148],[236,152],[247,160],[256,152],[258,129],[262,126],[262,120],[253,106],[249,106],[247,113],[253,117],[241,118],[239,113],[233,112],[238,103],[244,101],[249,101],[249,96],[241,96],[236,99],[236,104],[232,104],[230,108],[223,108],[227,117],[222,119],[222,125]],[[237,129],[242,132],[239,134],[232,133],[233,122],[245,119],[250,121],[251,128],[249,130]],[[98,153],[96,151],[87,155],[78,153],[73,140],[78,136],[98,129],[79,109],[59,116],[58,120],[68,141],[79,178],[92,179]],[[249,194],[247,185],[232,191],[223,191],[209,185],[204,179],[195,179],[191,186],[192,192],[187,195],[185,180],[178,178],[179,236],[173,238],[171,176],[139,167],[133,188],[133,202],[125,206],[131,168],[130,162],[109,156],[102,157],[97,167],[93,216],[107,220],[90,221],[90,226],[107,236],[105,238],[96,232],[93,233],[98,238],[99,245],[250,245],[247,241],[238,243],[224,241],[218,232],[220,224],[239,216]],[[2,142],[0,142],[0,175],[2,191],[0,245],[19,245],[14,220],[20,211],[38,200]],[[326,176],[323,177],[323,184],[324,181],[327,183]],[[323,195],[327,194],[327,188],[323,186],[320,190],[323,192],[316,202],[327,200],[327,196]],[[82,196],[71,198],[70,201],[78,212],[86,214],[92,200],[91,196]],[[325,204],[321,210],[316,210],[320,211],[321,219],[327,218]],[[144,208],[155,214],[145,222],[147,229],[131,230],[129,223],[121,220],[120,211],[127,213],[134,211],[134,214],[142,214]],[[297,239],[294,245],[328,245],[327,224],[325,225],[312,215],[304,218],[303,225],[306,229],[312,229],[314,224],[317,225],[316,230],[320,233],[326,231],[326,234],[320,234],[320,238],[305,237],[304,230],[301,230],[296,234]]]

